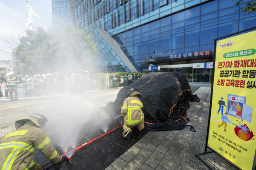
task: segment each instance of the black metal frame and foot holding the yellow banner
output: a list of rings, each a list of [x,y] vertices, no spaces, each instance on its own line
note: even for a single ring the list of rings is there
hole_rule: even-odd
[[[205,154],[208,154],[208,153],[215,153],[217,154],[218,156],[220,156],[222,159],[224,159],[225,161],[227,161],[228,163],[230,163],[231,165],[233,165],[236,169],[238,170],[241,170],[241,168],[237,167],[235,164],[233,164],[231,161],[229,161],[228,159],[224,158],[224,156],[220,155],[219,153],[215,152],[215,150],[213,150],[212,148],[208,147],[207,144],[208,144],[208,139],[209,139],[209,126],[210,126],[210,119],[211,119],[211,110],[212,110],[212,92],[213,92],[213,82],[214,82],[214,72],[215,72],[215,57],[216,57],[216,44],[217,44],[217,41],[218,40],[221,40],[221,39],[224,39],[224,38],[227,38],[227,37],[230,37],[230,36],[233,36],[233,35],[236,35],[236,34],[240,34],[240,33],[243,33],[243,32],[246,32],[246,31],[251,31],[255,29],[256,31],[256,27],[252,27],[252,28],[248,28],[246,30],[243,30],[243,31],[239,31],[239,32],[236,32],[236,33],[233,33],[233,34],[229,34],[229,35],[226,35],[224,37],[220,37],[220,38],[217,38],[214,40],[214,48],[213,50],[215,51],[215,53],[213,54],[213,65],[212,65],[212,85],[211,85],[211,100],[210,100],[210,106],[209,106],[209,116],[208,116],[208,124],[207,124],[207,136],[206,136],[206,143],[205,143],[205,149],[204,149],[204,152],[203,153],[197,153],[195,154],[195,156],[200,160],[202,161],[210,170],[213,170],[212,167],[210,167],[207,162],[205,162],[203,159],[201,159],[199,156],[201,155],[205,155]],[[211,151],[208,151],[207,152],[207,148]],[[256,167],[255,167],[255,170],[256,170]]]

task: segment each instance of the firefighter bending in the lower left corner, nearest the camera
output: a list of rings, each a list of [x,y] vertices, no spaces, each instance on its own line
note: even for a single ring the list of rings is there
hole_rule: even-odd
[[[35,148],[44,157],[58,163],[62,157],[53,148],[49,137],[43,130],[48,120],[35,113],[15,122],[16,130],[7,134],[0,142],[0,170],[43,170],[42,164],[35,164],[32,157]]]

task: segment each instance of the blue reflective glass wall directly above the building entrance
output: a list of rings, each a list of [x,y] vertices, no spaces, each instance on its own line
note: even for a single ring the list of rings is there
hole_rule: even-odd
[[[113,38],[139,67],[140,59],[208,51],[213,49],[215,38],[256,26],[256,12],[245,14],[238,11],[240,7],[236,0],[215,0]]]

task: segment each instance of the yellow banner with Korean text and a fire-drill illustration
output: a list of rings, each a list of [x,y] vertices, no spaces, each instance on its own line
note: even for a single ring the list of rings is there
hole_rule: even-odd
[[[256,31],[217,41],[208,147],[243,170],[256,149]]]

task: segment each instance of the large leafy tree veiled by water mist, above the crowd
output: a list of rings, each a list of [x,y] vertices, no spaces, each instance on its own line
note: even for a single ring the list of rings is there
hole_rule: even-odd
[[[18,40],[9,38],[9,50],[15,51],[12,58],[22,64],[23,70],[34,74],[63,72],[77,73],[80,69],[92,71],[93,57],[96,57],[96,43],[91,34],[66,25],[61,29],[47,31],[37,27],[35,31],[25,30],[26,36]],[[2,51],[11,56],[8,51]]]

